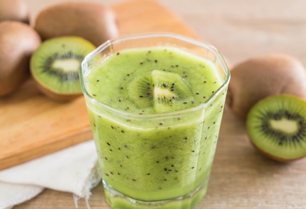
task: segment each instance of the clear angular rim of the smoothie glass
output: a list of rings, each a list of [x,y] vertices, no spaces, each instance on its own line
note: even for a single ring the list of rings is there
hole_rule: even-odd
[[[118,108],[112,107],[109,104],[106,104],[104,102],[98,101],[97,99],[93,98],[88,92],[87,89],[84,85],[84,70],[85,66],[87,64],[87,62],[89,62],[93,57],[95,57],[96,55],[98,55],[100,52],[102,52],[103,50],[107,49],[109,46],[112,46],[113,44],[122,42],[122,41],[128,41],[128,40],[134,40],[134,39],[145,39],[145,38],[157,38],[157,37],[165,37],[165,38],[174,38],[176,40],[180,40],[180,41],[184,41],[186,43],[190,43],[196,46],[200,46],[200,47],[204,47],[208,50],[210,50],[215,56],[216,59],[218,59],[224,73],[225,73],[225,79],[222,83],[222,85],[219,86],[219,88],[212,93],[203,103],[201,103],[200,105],[197,105],[196,107],[193,108],[188,108],[188,109],[184,109],[184,110],[179,110],[179,111],[174,111],[174,112],[167,112],[167,113],[156,113],[156,114],[143,114],[143,115],[139,115],[136,113],[128,113],[124,110],[120,110]],[[88,53],[85,58],[82,60],[80,68],[79,68],[79,74],[80,74],[80,82],[81,82],[81,87],[82,87],[82,91],[85,95],[85,97],[89,98],[90,101],[92,103],[94,103],[95,105],[104,108],[106,110],[109,110],[113,113],[119,114],[121,116],[124,116],[126,118],[133,118],[133,119],[150,119],[150,118],[156,118],[156,117],[172,117],[172,116],[182,116],[182,115],[189,115],[190,113],[194,113],[197,112],[199,110],[202,110],[204,108],[206,108],[211,101],[213,100],[213,98],[217,97],[220,92],[227,88],[228,83],[230,81],[230,70],[228,69],[228,66],[225,63],[225,60],[223,58],[223,56],[221,55],[221,53],[219,52],[219,50],[215,47],[212,46],[204,41],[200,41],[197,40],[195,38],[191,38],[191,37],[187,37],[184,35],[180,35],[180,34],[175,34],[175,33],[168,33],[168,32],[152,32],[152,33],[140,33],[140,34],[131,34],[131,35],[125,35],[125,36],[120,36],[118,38],[112,39],[112,40],[107,40],[106,42],[104,42],[103,44],[101,44],[100,46],[98,46],[96,49],[94,49],[93,51],[91,51],[90,53]]]

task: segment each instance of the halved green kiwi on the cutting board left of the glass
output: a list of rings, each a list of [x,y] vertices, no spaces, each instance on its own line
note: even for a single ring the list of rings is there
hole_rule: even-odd
[[[95,46],[77,36],[63,36],[44,41],[34,52],[30,70],[39,89],[48,97],[72,100],[82,94],[79,67]]]

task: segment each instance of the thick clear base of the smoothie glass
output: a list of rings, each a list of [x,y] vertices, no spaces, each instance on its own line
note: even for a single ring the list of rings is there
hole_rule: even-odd
[[[141,201],[128,197],[102,180],[106,201],[113,209],[193,209],[206,194],[208,181],[203,182],[193,192],[174,199],[162,201]]]

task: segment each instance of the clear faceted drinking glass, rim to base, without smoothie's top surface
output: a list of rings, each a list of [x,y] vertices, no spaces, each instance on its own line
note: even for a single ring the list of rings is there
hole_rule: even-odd
[[[149,115],[112,107],[88,92],[88,75],[110,56],[155,46],[176,47],[209,60],[221,80],[219,88],[196,107]],[[109,205],[114,209],[194,208],[207,191],[230,80],[219,51],[178,34],[120,37],[85,57],[80,80]]]

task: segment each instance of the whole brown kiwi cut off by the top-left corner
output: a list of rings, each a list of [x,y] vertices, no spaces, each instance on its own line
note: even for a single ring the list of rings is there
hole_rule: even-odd
[[[0,0],[0,22],[19,21],[29,24],[29,10],[23,0]]]

